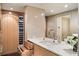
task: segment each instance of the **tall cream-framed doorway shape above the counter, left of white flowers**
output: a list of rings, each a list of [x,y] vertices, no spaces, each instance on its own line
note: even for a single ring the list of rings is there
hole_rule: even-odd
[[[70,15],[57,18],[57,39],[64,40],[70,35]]]

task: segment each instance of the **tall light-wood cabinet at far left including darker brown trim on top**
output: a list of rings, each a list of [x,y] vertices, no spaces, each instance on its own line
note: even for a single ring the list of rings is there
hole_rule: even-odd
[[[19,16],[24,13],[2,10],[1,31],[2,31],[2,55],[17,52],[19,45]]]

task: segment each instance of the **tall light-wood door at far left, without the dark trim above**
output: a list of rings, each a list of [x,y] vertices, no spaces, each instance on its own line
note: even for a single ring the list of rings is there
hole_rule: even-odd
[[[17,51],[18,32],[18,17],[15,15],[3,14],[3,54]]]

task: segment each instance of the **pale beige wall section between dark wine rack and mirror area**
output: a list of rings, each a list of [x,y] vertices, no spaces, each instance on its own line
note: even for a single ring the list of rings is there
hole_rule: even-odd
[[[25,8],[25,39],[45,37],[45,15],[44,10],[35,7]]]

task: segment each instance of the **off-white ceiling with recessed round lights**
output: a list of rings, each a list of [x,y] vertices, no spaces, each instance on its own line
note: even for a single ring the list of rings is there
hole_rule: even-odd
[[[68,7],[65,8],[65,5],[68,5]],[[24,12],[25,6],[44,9],[46,16],[55,15],[78,8],[77,3],[3,3],[2,9],[10,10],[10,8],[13,8],[13,11]],[[53,12],[50,12],[50,10],[53,10]]]

